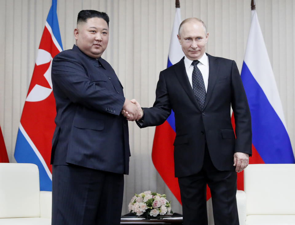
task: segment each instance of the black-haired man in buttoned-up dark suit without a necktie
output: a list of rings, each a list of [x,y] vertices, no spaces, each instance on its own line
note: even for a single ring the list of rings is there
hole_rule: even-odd
[[[106,13],[82,10],[76,44],[54,57],[56,129],[51,152],[52,224],[120,224],[129,171],[128,121],[138,110],[124,98],[115,71],[101,58],[108,45]]]

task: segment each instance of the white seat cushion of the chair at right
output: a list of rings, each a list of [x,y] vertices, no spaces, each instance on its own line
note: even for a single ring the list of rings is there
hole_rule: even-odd
[[[249,215],[246,225],[295,225],[295,215]]]

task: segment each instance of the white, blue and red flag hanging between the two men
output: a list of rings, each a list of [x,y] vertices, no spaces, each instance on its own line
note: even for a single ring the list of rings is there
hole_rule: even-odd
[[[181,23],[180,8],[176,8],[175,18],[171,33],[171,41],[168,54],[167,68],[177,62],[184,56],[179,44],[177,34]],[[181,203],[178,179],[174,175],[174,146],[175,139],[175,119],[174,112],[171,111],[170,116],[162,124],[156,127],[152,148],[152,161],[159,172],[160,176],[171,190],[176,199]]]

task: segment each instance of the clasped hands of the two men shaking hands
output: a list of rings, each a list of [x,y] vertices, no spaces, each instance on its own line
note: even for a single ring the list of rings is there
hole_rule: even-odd
[[[129,121],[138,121],[144,115],[140,104],[135,99],[131,101],[125,99],[121,113]]]

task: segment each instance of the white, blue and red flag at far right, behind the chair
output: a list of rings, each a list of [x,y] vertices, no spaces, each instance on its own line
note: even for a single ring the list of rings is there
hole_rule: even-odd
[[[250,163],[295,163],[281,100],[255,10],[252,10],[241,78],[252,119],[253,155]],[[238,183],[241,183],[239,179],[242,177],[238,178]]]

